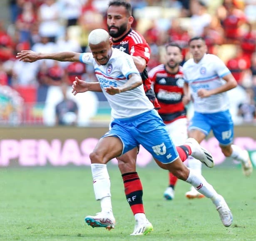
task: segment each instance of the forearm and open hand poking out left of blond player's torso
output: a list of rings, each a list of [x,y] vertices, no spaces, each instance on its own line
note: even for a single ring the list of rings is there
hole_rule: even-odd
[[[99,82],[86,82],[75,77],[75,81],[72,85],[72,93],[74,96],[77,93],[83,93],[86,91],[101,92],[102,89],[100,88]]]

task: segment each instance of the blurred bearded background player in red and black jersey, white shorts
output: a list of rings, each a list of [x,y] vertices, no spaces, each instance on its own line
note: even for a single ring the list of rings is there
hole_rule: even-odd
[[[184,79],[180,66],[183,60],[182,49],[176,43],[169,43],[165,46],[165,50],[165,64],[151,69],[149,79],[161,106],[158,113],[164,120],[174,145],[182,145],[188,138],[185,105],[190,101],[188,89],[183,88]],[[201,174],[201,162],[199,160],[189,156],[188,166]],[[174,199],[176,182],[177,177],[169,172],[169,187],[164,192],[164,197],[167,200]],[[193,186],[185,195],[187,198],[204,197]]]

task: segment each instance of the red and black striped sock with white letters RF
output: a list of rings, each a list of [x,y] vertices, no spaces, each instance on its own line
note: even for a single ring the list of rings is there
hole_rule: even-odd
[[[124,192],[133,214],[145,213],[142,202],[142,183],[137,172],[129,172],[122,175]]]

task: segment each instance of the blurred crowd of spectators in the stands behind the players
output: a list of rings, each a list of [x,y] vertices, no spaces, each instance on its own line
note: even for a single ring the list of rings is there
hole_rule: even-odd
[[[181,45],[185,61],[190,57],[188,40],[203,36],[208,52],[223,59],[239,84],[239,91],[231,93],[235,123],[256,122],[256,0],[129,2],[135,19],[132,27],[144,35],[152,50],[148,69],[163,62],[162,50],[167,42]],[[15,56],[25,49],[89,51],[89,32],[95,28],[107,30],[108,3],[9,0],[10,19],[0,22],[0,98],[5,103],[0,108],[0,123],[86,125],[96,115],[98,101],[104,100],[100,93],[74,98],[70,91],[75,76],[96,81],[93,68],[52,60],[25,63]],[[56,108],[65,100],[69,102]],[[17,102],[22,104],[14,104]],[[24,104],[25,110],[20,111]]]

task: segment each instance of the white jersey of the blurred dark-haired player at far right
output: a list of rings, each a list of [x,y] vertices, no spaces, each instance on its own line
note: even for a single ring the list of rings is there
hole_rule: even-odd
[[[199,113],[216,113],[229,109],[229,98],[227,92],[201,98],[197,95],[199,89],[216,89],[226,83],[223,76],[230,74],[224,62],[213,54],[205,54],[195,63],[189,59],[183,65],[184,79],[191,87],[194,98],[194,110]]]

